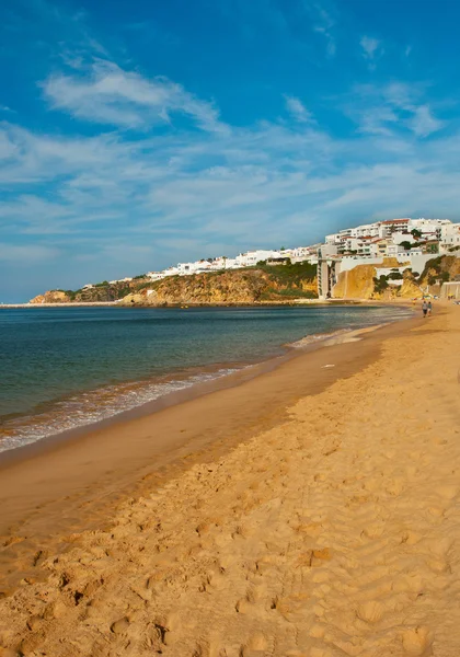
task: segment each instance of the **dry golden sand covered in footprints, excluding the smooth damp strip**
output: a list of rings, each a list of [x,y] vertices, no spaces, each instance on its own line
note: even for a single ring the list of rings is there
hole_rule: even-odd
[[[458,657],[460,307],[384,335],[321,350],[367,365],[37,552],[0,655]]]

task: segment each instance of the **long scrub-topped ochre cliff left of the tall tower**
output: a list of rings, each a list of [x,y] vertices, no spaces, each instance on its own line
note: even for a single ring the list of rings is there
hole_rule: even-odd
[[[317,298],[317,267],[308,263],[248,267],[194,276],[170,276],[151,283],[137,279],[99,284],[77,291],[53,290],[31,303],[119,300],[123,306],[275,303]]]

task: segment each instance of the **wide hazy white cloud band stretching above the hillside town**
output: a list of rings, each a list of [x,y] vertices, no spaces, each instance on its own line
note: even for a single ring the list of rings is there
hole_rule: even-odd
[[[136,93],[137,84],[129,97]],[[295,120],[217,134],[188,126],[65,138],[0,124],[2,230],[53,251],[38,250],[35,262],[65,252],[61,268],[73,266],[79,286],[214,255],[217,245],[231,255],[308,243],[332,221],[377,210],[456,211],[460,136],[423,139],[441,123],[423,88],[354,89],[359,131],[349,138],[320,129],[299,99],[286,105]],[[59,272],[46,287],[61,285]]]

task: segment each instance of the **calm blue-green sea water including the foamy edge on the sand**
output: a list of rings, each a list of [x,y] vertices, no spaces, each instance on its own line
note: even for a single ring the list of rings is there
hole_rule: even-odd
[[[320,336],[403,318],[363,307],[0,310],[0,451]]]

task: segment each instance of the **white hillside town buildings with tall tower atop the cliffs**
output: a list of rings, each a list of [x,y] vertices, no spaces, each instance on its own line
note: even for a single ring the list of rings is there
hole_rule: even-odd
[[[145,276],[156,281],[169,276],[254,267],[260,262],[266,265],[308,262],[318,265],[319,296],[327,297],[338,274],[358,265],[381,266],[384,258],[393,258],[393,265],[398,261],[400,267],[389,267],[388,273],[402,275],[410,267],[415,275],[423,272],[430,258],[452,254],[460,256],[460,223],[453,223],[449,219],[402,218],[346,228],[326,235],[324,243],[295,249],[257,249],[240,253],[235,257],[218,256],[179,263],[161,272],[148,272]],[[379,272],[386,274],[381,267]],[[110,284],[131,280],[133,277],[126,277],[111,280]],[[393,281],[394,285],[398,283]],[[83,289],[92,287],[93,284],[87,284]]]

